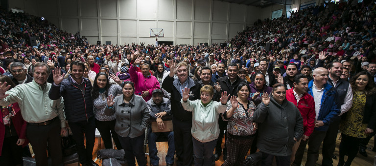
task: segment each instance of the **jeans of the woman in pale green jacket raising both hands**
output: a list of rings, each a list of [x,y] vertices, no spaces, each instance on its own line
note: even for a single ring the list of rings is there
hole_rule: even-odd
[[[217,140],[202,143],[192,137],[194,166],[211,166],[214,161],[213,151]]]

